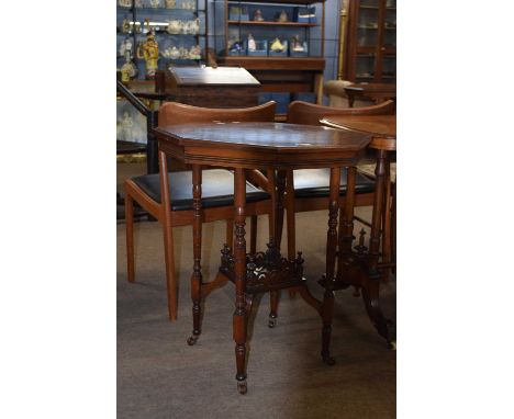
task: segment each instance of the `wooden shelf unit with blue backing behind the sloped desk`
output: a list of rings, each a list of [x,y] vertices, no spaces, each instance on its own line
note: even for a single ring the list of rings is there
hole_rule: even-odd
[[[261,83],[261,101],[284,114],[293,99],[321,99],[325,3],[214,0],[213,44],[221,65],[241,66]],[[303,97],[302,97],[303,94]]]

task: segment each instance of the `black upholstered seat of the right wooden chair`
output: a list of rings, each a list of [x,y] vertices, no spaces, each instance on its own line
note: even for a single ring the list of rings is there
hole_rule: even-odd
[[[331,169],[294,170],[295,197],[324,197],[329,194]],[[357,172],[355,178],[355,193],[372,193],[375,182]],[[340,173],[342,195],[346,194],[346,170]]]

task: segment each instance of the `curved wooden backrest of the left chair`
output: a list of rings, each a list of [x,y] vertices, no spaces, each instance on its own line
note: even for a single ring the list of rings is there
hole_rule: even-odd
[[[202,122],[272,122],[277,103],[269,101],[252,107],[200,107],[166,102],[159,109],[159,126]]]

